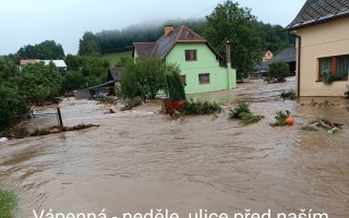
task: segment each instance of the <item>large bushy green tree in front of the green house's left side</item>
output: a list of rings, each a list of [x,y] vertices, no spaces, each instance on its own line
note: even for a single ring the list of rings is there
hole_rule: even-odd
[[[166,90],[166,63],[158,59],[129,61],[121,74],[121,95],[125,98],[155,98]]]

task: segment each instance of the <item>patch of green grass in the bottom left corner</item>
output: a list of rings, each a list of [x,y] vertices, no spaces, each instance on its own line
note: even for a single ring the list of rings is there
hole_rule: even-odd
[[[13,218],[13,210],[17,206],[17,197],[7,191],[0,190],[0,217]]]

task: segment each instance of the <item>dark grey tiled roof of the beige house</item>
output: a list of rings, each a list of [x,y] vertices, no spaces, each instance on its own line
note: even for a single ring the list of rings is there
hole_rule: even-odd
[[[348,0],[308,0],[286,29],[296,31],[346,16],[349,16]]]

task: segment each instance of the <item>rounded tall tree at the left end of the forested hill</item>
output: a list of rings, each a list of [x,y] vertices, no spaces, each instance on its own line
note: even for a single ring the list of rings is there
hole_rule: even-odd
[[[100,56],[100,45],[97,37],[92,32],[85,32],[79,44],[80,56]]]

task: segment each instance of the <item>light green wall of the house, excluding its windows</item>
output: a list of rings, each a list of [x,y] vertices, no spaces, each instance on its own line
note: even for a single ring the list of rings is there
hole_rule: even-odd
[[[197,61],[185,61],[185,50],[196,50]],[[236,70],[230,68],[228,73],[227,68],[219,66],[216,55],[206,44],[177,44],[166,61],[179,64],[181,74],[186,78],[186,94],[224,90],[237,86]],[[203,73],[209,73],[209,84],[198,83],[198,74]]]

